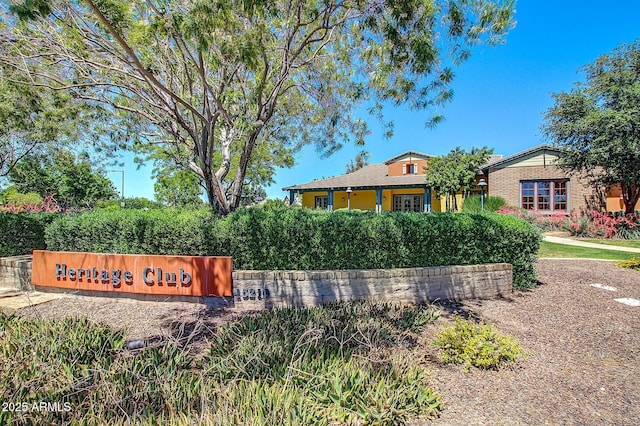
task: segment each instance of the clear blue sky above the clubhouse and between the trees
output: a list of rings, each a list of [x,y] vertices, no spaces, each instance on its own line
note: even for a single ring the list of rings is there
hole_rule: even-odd
[[[428,112],[387,108],[395,123],[391,139],[384,139],[376,122],[365,149],[370,163],[380,163],[406,150],[446,154],[456,146],[494,148],[510,155],[544,142],[540,125],[552,106],[551,93],[570,90],[584,81],[579,69],[621,43],[640,39],[640,2],[611,3],[585,0],[520,0],[516,27],[506,42],[478,46],[471,58],[455,70],[453,102],[439,112],[446,120],[425,128]],[[285,186],[344,173],[359,148],[345,146],[329,158],[318,158],[313,146],[296,156],[291,169],[278,170],[269,198],[283,198]],[[125,166],[125,195],[153,198],[151,165],[136,170],[130,158]],[[121,175],[110,173],[120,190]]]

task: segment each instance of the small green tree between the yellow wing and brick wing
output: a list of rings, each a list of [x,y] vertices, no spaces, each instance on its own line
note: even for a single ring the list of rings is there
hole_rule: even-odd
[[[457,210],[456,194],[469,191],[476,181],[478,170],[487,162],[493,149],[486,146],[467,152],[460,147],[447,155],[429,159],[425,174],[427,185],[439,197],[446,197],[447,211]]]

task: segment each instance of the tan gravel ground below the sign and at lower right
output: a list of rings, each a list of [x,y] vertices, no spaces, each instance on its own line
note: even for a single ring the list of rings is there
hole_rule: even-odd
[[[446,404],[433,424],[640,424],[640,307],[614,301],[640,299],[640,272],[612,262],[541,260],[538,277],[541,285],[530,292],[447,307],[440,323],[457,313],[493,323],[517,337],[528,357],[512,368],[468,373],[429,362],[434,387]],[[206,345],[216,326],[242,315],[189,303],[86,297],[54,300],[21,313],[87,316],[125,327],[132,339],[174,336],[198,346]]]

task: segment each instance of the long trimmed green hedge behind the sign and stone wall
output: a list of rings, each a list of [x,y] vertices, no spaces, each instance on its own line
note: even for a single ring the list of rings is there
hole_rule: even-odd
[[[97,211],[46,230],[49,250],[233,256],[235,269],[371,269],[506,262],[514,286],[536,283],[540,231],[499,214],[325,212],[247,208]]]

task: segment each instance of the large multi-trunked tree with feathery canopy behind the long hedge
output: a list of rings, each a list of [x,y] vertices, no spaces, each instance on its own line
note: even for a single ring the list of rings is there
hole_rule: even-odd
[[[4,5],[5,3],[3,3]],[[331,153],[368,128],[363,102],[447,102],[450,66],[513,25],[501,0],[15,0],[0,63],[113,112],[162,146],[221,213],[257,147]],[[434,111],[432,111],[434,112]],[[433,115],[438,121],[439,115]]]

